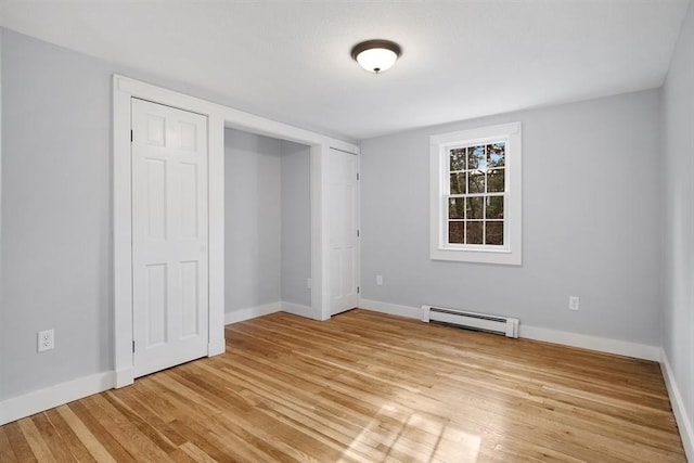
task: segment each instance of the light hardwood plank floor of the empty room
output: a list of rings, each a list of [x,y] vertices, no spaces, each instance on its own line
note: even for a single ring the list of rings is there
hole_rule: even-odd
[[[364,310],[0,427],[0,461],[684,462],[657,363]]]

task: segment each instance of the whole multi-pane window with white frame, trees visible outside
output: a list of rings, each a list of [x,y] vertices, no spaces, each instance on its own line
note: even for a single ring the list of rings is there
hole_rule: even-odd
[[[430,145],[432,259],[520,265],[520,123]]]

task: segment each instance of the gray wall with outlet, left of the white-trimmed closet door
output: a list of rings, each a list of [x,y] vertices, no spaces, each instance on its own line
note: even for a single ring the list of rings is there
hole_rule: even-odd
[[[112,69],[8,30],[2,61],[0,399],[113,369]]]

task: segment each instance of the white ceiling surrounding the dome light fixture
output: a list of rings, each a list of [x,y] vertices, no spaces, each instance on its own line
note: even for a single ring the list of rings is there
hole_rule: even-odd
[[[350,141],[659,87],[689,0],[0,0],[0,24]],[[402,47],[373,75],[351,47]]]

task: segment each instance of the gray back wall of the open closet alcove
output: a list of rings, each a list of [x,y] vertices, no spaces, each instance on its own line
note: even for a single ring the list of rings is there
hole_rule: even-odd
[[[224,130],[224,306],[280,300],[281,142]]]

